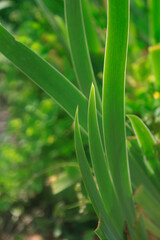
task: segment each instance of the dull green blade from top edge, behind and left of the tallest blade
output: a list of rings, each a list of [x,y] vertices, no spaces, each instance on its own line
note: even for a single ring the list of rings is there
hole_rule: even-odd
[[[87,45],[81,0],[65,0],[65,18],[69,36],[72,63],[78,85],[88,98],[92,82],[96,89],[97,107],[101,110],[101,97],[96,84]]]

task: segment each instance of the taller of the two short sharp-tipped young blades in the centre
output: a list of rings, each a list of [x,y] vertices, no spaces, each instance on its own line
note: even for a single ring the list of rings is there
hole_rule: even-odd
[[[124,219],[112,181],[109,166],[104,156],[104,149],[98,127],[94,86],[91,87],[88,108],[88,138],[92,165],[98,188],[109,216],[120,232],[124,229]]]

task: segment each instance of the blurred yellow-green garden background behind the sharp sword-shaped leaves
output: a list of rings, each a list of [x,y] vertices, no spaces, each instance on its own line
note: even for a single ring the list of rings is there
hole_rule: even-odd
[[[67,49],[62,0],[0,1],[0,21],[16,39],[75,83]],[[99,85],[107,25],[106,0],[90,0],[101,52],[92,54]],[[61,32],[56,26],[61,26]],[[65,36],[65,37],[64,37]],[[131,0],[126,113],[140,116],[160,136],[160,92],[148,47],[147,0]],[[45,79],[44,79],[45,81]],[[0,239],[93,240],[97,220],[76,162],[73,121],[0,55]]]

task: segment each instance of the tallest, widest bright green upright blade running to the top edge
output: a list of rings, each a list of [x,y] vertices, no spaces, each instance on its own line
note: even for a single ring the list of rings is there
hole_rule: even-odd
[[[136,213],[126,151],[124,90],[129,30],[129,0],[108,0],[108,27],[103,78],[103,131],[107,159],[132,239],[143,227],[133,227]],[[124,211],[125,210],[125,211]],[[138,223],[139,224],[139,223]],[[141,224],[141,223],[140,223]],[[136,225],[136,224],[135,224]],[[146,239],[146,234],[143,236]]]

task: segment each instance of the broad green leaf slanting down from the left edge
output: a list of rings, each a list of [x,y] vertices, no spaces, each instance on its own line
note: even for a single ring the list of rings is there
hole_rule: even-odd
[[[60,72],[31,51],[0,25],[0,52],[74,118],[79,106],[80,124],[87,131],[86,97]]]

